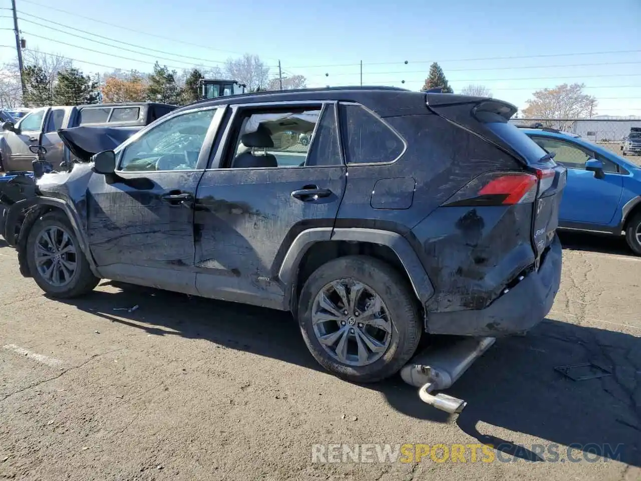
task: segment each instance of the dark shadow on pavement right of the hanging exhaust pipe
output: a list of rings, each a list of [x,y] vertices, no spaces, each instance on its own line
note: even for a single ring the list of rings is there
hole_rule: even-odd
[[[447,391],[469,403],[456,423],[479,443],[522,459],[547,460],[549,446],[544,453],[540,447],[528,449],[497,432],[522,432],[572,445],[584,455],[641,466],[639,341],[627,333],[552,319],[525,337],[499,339]],[[554,369],[587,362],[612,374],[574,381]]]

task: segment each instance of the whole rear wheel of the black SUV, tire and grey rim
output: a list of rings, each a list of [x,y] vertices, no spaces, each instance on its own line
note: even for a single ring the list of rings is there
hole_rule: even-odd
[[[406,280],[378,259],[347,256],[304,284],[298,320],[321,366],[351,382],[394,375],[419,344],[422,322]]]

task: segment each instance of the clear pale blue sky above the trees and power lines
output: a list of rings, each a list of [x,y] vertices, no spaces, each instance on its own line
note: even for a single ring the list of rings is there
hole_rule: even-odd
[[[641,0],[406,0],[398,7],[380,0],[16,2],[28,47],[73,58],[85,72],[150,71],[155,55],[180,69],[252,53],[272,74],[281,60],[286,74],[303,74],[310,87],[358,84],[362,60],[363,83],[418,90],[437,61],[454,91],[479,83],[522,108],[533,90],[576,81],[599,99],[598,114],[641,115]],[[10,0],[0,4],[10,7]],[[0,28],[12,26],[12,19],[0,18]],[[70,27],[131,45],[90,42]],[[14,43],[12,31],[0,30],[1,46]],[[603,53],[612,51],[626,53]],[[590,55],[574,55],[581,53]],[[4,62],[14,55],[15,49],[0,48]]]

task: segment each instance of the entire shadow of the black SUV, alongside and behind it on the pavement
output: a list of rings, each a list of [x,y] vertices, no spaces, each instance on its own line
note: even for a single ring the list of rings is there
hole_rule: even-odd
[[[94,291],[65,302],[151,335],[206,339],[324,372],[288,313],[109,283],[121,290]],[[135,305],[139,308],[133,312],[114,310]],[[543,454],[536,447],[514,444],[504,439],[508,430],[641,466],[639,341],[627,333],[545,319],[524,337],[497,340],[446,391],[468,403],[458,417],[420,401],[417,390],[399,376],[363,387],[381,392],[393,409],[406,416],[456,422],[463,432],[479,443],[492,444],[506,457],[538,461],[549,449],[545,445]],[[612,374],[572,381],[554,370],[585,362],[597,363]]]

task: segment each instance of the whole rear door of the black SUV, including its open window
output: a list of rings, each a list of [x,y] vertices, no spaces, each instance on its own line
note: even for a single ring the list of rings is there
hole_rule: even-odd
[[[196,287],[283,307],[278,269],[296,235],[333,228],[345,189],[335,105],[233,108],[196,194]],[[313,133],[313,135],[312,135]],[[301,144],[301,134],[311,140]]]

